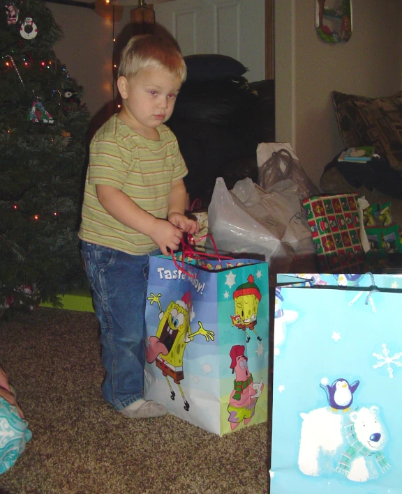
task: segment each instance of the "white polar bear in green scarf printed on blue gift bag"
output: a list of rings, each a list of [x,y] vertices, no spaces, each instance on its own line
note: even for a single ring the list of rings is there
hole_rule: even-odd
[[[365,482],[385,473],[390,465],[382,450],[387,442],[378,407],[350,413],[317,408],[301,413],[299,469],[306,475],[337,472]]]

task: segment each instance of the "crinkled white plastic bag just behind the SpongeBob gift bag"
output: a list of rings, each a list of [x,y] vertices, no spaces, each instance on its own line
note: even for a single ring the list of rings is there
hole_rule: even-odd
[[[208,208],[209,231],[221,254],[264,256],[271,272],[278,272],[290,267],[299,242],[306,240],[314,252],[308,228],[302,225],[301,233],[292,224],[297,213],[300,203],[295,184],[281,196],[256,189],[251,179],[245,178],[231,193],[223,178],[217,178]]]

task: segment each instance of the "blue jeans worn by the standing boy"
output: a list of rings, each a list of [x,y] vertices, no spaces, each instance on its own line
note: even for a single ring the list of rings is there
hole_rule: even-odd
[[[105,400],[121,410],[142,398],[149,256],[134,256],[82,240],[81,254],[101,324]]]

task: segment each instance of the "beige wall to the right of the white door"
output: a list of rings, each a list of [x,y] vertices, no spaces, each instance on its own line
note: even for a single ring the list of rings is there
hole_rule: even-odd
[[[315,33],[315,1],[275,2],[276,140],[292,144],[316,184],[344,147],[332,91],[374,97],[401,89],[401,6],[353,0],[352,37],[329,45]]]

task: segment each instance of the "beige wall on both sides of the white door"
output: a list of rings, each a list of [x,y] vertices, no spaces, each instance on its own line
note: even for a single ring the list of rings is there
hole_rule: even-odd
[[[97,128],[111,111],[112,24],[87,8],[47,6],[64,31],[55,52],[84,86]],[[352,38],[343,45],[316,35],[315,0],[276,0],[274,8],[276,140],[292,144],[318,184],[325,164],[343,148],[331,92],[379,96],[401,88],[401,0],[354,0]],[[115,23],[115,35],[117,48],[131,36],[130,7]]]

